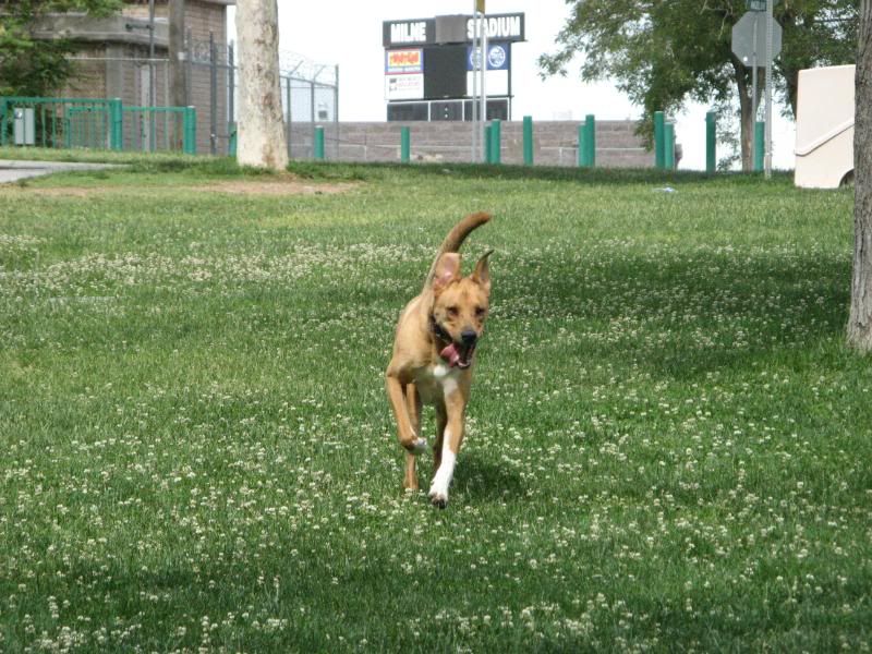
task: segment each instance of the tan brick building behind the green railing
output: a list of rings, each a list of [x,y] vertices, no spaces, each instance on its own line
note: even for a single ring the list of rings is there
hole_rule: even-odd
[[[229,80],[227,8],[235,0],[186,0],[189,52],[186,105],[196,108],[197,152],[227,150]],[[61,97],[121,98],[125,106],[168,104],[169,0],[155,0],[154,58],[149,59],[149,0],[124,0],[120,14],[50,14],[34,26],[37,38],[69,38],[75,46],[75,73]],[[152,82],[152,80],[154,82]],[[154,100],[154,102],[152,102]],[[156,130],[159,128],[156,128]],[[135,125],[125,124],[125,142]]]

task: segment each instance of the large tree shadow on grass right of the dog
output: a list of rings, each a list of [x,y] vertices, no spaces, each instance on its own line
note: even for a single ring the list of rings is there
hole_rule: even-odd
[[[747,253],[746,253],[747,255]],[[593,271],[570,266],[523,276],[500,298],[500,319],[525,325],[529,338],[562,349],[555,363],[633,362],[676,377],[748,367],[785,355],[812,361],[843,338],[850,262],[812,253],[652,262],[625,256]],[[537,259],[531,268],[544,267]],[[512,296],[512,294],[514,296]],[[530,303],[537,305],[532,316]],[[518,307],[516,312],[513,307]],[[554,325],[580,338],[564,343]],[[512,329],[511,326],[508,327]]]

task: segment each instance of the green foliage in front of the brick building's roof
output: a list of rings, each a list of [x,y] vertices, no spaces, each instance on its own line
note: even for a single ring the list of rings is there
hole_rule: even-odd
[[[51,95],[72,75],[69,39],[37,40],[35,22],[52,12],[108,15],[121,0],[25,0],[0,3],[0,95]]]

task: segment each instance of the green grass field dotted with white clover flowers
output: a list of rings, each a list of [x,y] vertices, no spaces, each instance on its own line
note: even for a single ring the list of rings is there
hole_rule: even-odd
[[[0,189],[0,651],[869,650],[850,191],[124,161]],[[439,511],[383,371],[479,209]]]

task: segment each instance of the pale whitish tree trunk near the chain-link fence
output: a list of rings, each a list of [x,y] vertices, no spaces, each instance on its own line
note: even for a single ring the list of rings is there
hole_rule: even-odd
[[[279,81],[276,0],[237,2],[239,124],[237,159],[242,166],[288,166]]]

